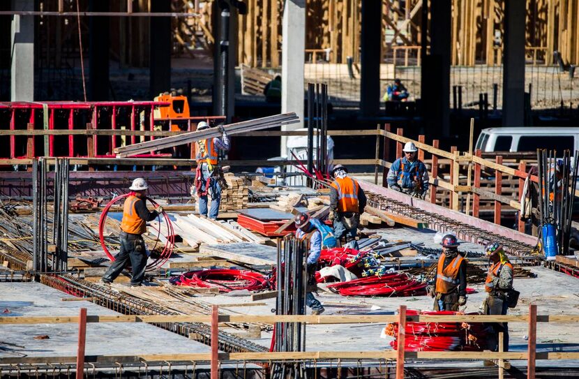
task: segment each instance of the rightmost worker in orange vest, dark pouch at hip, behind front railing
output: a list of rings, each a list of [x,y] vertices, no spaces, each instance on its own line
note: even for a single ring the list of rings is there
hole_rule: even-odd
[[[485,281],[487,297],[483,303],[486,315],[506,315],[506,293],[513,289],[513,265],[504,253],[502,244],[490,242],[485,248],[489,260]],[[488,348],[499,350],[499,332],[503,332],[504,351],[509,351],[509,327],[506,322],[488,325]]]

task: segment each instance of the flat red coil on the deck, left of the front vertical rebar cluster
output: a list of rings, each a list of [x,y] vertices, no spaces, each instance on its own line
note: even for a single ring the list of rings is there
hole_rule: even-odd
[[[259,272],[239,269],[207,269],[186,272],[170,279],[174,285],[218,288],[220,292],[233,290],[259,291],[272,288],[266,276]]]

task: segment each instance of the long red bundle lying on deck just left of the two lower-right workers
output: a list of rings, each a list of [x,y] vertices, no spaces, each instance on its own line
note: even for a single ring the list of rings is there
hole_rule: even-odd
[[[419,296],[426,295],[426,283],[405,274],[368,276],[353,281],[329,284],[328,288],[343,296]]]

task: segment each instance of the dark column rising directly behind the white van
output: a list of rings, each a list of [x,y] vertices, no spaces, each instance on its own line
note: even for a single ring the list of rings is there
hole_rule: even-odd
[[[525,0],[504,3],[502,126],[525,125]]]

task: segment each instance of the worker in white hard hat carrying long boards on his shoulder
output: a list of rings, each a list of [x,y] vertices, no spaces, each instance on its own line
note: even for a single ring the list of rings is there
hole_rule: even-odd
[[[197,131],[209,128],[201,121]],[[223,170],[218,165],[218,150],[229,151],[230,140],[223,125],[218,126],[221,138],[209,138],[197,141],[197,170],[195,171],[195,192],[199,196],[199,214],[207,216],[207,195],[211,195],[209,218],[217,218],[221,202],[221,188],[227,188]],[[192,188],[193,189],[193,188]],[[192,194],[193,195],[193,194]]]

